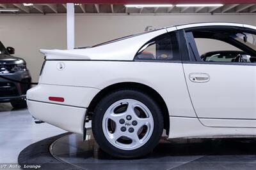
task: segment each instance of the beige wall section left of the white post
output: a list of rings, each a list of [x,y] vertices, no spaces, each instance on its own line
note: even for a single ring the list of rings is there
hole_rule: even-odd
[[[39,49],[66,48],[64,16],[0,16],[0,23],[0,41],[26,60],[33,81],[38,80],[44,61]]]

